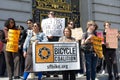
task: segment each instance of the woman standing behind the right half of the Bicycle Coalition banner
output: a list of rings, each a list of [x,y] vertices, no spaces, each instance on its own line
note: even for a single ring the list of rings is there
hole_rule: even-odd
[[[68,27],[65,28],[63,33],[64,33],[64,36],[60,37],[59,42],[74,42],[75,41],[75,38],[71,37],[72,32],[70,28]],[[74,70],[63,71],[63,80],[76,80],[75,71]]]

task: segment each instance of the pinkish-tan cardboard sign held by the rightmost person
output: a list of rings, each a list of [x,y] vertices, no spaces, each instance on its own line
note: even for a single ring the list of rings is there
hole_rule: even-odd
[[[107,48],[118,48],[118,30],[117,29],[107,29],[106,30],[106,43]]]

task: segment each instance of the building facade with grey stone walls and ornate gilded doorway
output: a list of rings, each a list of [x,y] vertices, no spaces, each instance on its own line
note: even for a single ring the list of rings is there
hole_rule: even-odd
[[[0,0],[0,29],[7,18],[14,18],[17,25],[26,26],[27,19],[41,22],[49,11],[66,18],[66,22],[73,20],[75,26],[84,31],[89,20],[96,21],[99,30],[103,30],[104,21],[110,21],[113,28],[120,30],[120,0]],[[120,68],[119,49],[117,56]]]

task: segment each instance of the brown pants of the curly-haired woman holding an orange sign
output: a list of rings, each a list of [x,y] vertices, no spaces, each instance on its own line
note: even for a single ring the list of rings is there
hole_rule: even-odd
[[[8,52],[4,47],[4,54],[6,60],[6,67],[8,77],[12,78],[12,76],[19,76],[20,70],[20,55],[18,53]]]

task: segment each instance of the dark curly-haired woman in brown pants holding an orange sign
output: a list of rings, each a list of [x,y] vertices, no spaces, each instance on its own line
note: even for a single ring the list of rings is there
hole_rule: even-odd
[[[5,59],[6,59],[6,67],[7,67],[7,73],[9,80],[13,80],[12,77],[14,76],[14,79],[19,79],[19,69],[20,69],[20,55],[17,51],[7,51],[7,43],[10,41],[9,36],[9,30],[16,30],[16,24],[15,20],[13,18],[8,18],[8,20],[4,24],[3,31],[5,33],[3,39],[4,42],[4,53],[5,53]],[[12,34],[12,33],[11,33]],[[12,34],[14,35],[14,34]],[[18,34],[19,36],[19,34]],[[13,36],[16,37],[16,36]],[[11,38],[13,38],[11,37]],[[12,44],[11,44],[12,46]]]

